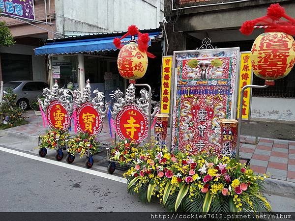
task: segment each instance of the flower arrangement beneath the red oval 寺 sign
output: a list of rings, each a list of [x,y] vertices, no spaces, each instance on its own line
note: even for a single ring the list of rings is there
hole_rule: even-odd
[[[120,140],[114,145],[110,152],[110,160],[118,161],[120,164],[132,164],[138,155],[138,144],[129,140]]]

